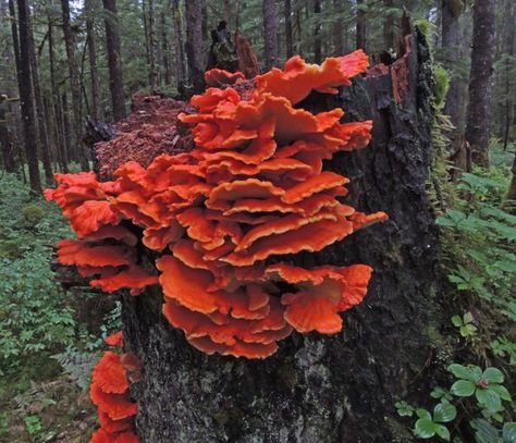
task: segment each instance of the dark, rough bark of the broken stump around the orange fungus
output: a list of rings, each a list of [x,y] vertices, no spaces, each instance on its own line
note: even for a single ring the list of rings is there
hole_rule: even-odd
[[[124,296],[126,347],[145,366],[133,385],[143,443],[411,440],[393,431],[394,402],[422,382],[432,356],[429,319],[439,325],[441,315],[438,241],[425,192],[431,65],[419,34],[407,42],[411,50],[391,69],[373,71],[340,96],[314,95],[300,103],[312,111],[343,106],[351,120],[374,119],[372,145],[340,153],[325,168],[351,177],[351,205],[384,210],[391,220],[296,259],[371,264],[365,303],[344,316],[340,334],[294,334],[277,355],[245,360],[194,349],[164,320],[158,292]],[[397,104],[395,82],[406,88]]]

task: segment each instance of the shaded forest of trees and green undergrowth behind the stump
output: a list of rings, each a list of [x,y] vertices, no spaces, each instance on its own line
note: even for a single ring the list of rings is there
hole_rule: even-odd
[[[121,329],[121,304],[54,281],[52,247],[71,232],[40,197],[53,173],[94,168],[90,130],[123,121],[138,97],[187,99],[208,66],[237,66],[249,45],[248,76],[293,54],[320,63],[357,48],[389,65],[404,15],[432,58],[427,190],[450,313],[425,330],[432,357],[410,389],[428,401],[414,406],[451,398],[451,362],[496,366],[514,387],[514,0],[0,0],[0,441],[84,442],[96,428],[89,376],[102,337]],[[434,389],[421,394],[423,385]],[[405,420],[389,426],[408,442],[420,434],[405,401],[410,393],[386,408]],[[476,441],[497,443],[515,417],[514,406],[483,413],[462,401],[446,424],[455,441],[472,441],[481,424],[494,438]]]

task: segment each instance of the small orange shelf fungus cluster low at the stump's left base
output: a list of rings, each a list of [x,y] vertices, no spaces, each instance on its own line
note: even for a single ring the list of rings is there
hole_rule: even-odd
[[[123,347],[122,333],[106,339],[111,346]],[[108,350],[94,368],[89,396],[97,406],[100,428],[90,443],[138,443],[134,417],[138,404],[130,396],[130,385],[139,380],[142,365],[133,354]]]

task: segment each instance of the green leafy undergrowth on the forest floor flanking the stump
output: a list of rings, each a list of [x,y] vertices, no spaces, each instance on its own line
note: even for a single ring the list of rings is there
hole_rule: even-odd
[[[514,373],[516,364],[511,327],[516,217],[514,208],[503,207],[509,163],[508,152],[495,150],[489,171],[446,183],[451,204],[437,211],[451,282],[445,296],[456,308],[450,320],[453,340],[478,357],[467,362],[497,366],[505,374]],[[96,429],[90,371],[106,348],[102,339],[120,330],[120,305],[84,288],[64,292],[51,262],[53,245],[71,236],[65,220],[16,176],[3,174],[0,185],[0,441],[87,442]],[[103,317],[91,319],[91,309]],[[486,311],[494,315],[481,324]],[[395,407],[403,426],[414,429],[415,418],[407,418],[411,406],[398,402]]]

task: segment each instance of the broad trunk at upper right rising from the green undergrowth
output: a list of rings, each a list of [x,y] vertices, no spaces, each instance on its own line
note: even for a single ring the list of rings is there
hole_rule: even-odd
[[[494,52],[494,0],[476,0],[466,139],[475,164],[489,165],[491,74]]]

